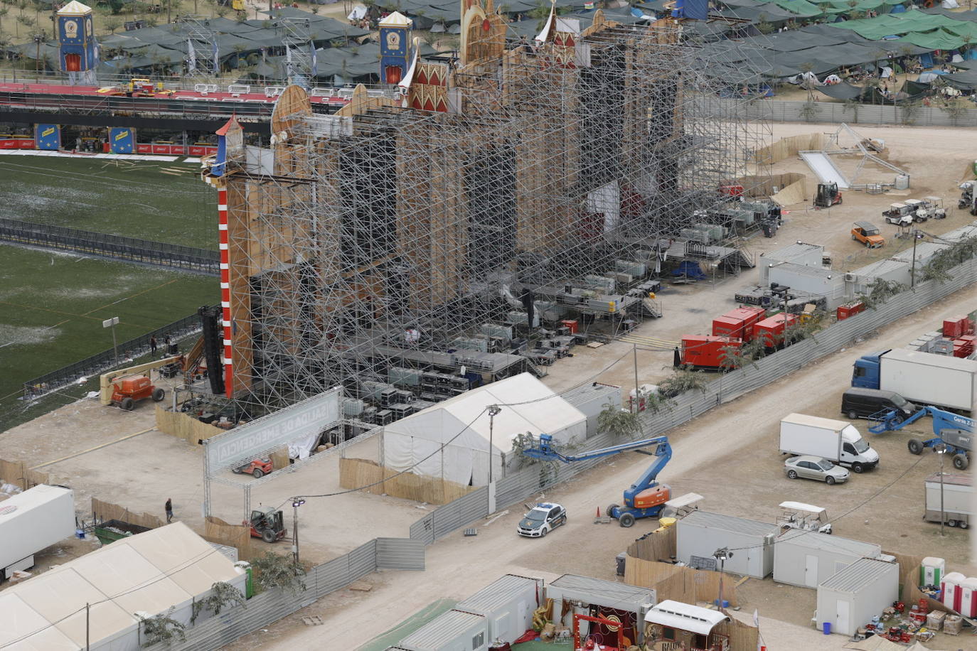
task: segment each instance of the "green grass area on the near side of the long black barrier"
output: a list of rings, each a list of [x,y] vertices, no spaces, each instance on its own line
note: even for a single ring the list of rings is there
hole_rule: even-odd
[[[219,287],[211,276],[0,244],[0,431],[26,420],[25,381],[112,347],[104,319],[119,317],[122,343],[217,303]]]

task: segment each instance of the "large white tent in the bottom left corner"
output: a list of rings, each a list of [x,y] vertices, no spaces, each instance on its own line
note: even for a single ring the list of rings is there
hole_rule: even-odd
[[[194,598],[205,597],[218,582],[243,593],[245,578],[220,551],[175,522],[0,592],[0,647],[77,651],[87,637],[92,649],[136,651],[136,613],[156,615],[174,607],[170,617],[189,626]]]

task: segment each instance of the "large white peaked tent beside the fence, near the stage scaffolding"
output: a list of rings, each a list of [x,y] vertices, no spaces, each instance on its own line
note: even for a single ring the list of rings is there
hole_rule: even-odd
[[[489,431],[488,406],[499,405]],[[531,432],[551,434],[562,445],[582,441],[587,419],[572,404],[529,373],[466,391],[384,427],[383,462],[392,470],[443,477],[459,484],[488,484],[502,477],[502,455],[511,458],[512,440]],[[445,445],[446,444],[446,445]],[[442,445],[444,450],[439,451]]]

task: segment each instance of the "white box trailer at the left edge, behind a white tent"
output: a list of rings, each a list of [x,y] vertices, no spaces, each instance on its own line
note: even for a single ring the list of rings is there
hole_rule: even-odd
[[[34,565],[34,554],[74,535],[74,495],[39,484],[0,502],[0,581]]]

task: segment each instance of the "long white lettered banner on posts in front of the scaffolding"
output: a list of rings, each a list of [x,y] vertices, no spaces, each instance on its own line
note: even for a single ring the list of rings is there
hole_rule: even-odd
[[[231,468],[279,445],[287,445],[335,425],[340,420],[341,399],[342,387],[330,388],[254,423],[205,440],[205,468],[210,472]]]

